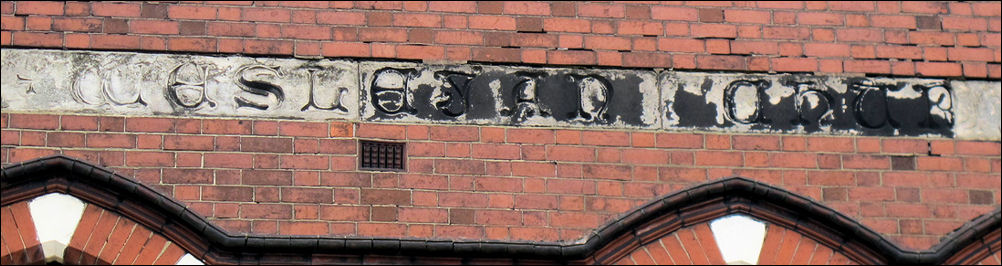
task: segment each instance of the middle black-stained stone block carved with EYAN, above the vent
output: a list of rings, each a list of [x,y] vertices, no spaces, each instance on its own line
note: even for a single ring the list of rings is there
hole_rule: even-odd
[[[362,118],[659,128],[653,71],[362,62]]]

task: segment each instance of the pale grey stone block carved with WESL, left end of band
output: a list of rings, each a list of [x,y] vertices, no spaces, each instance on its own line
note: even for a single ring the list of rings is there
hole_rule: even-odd
[[[4,110],[355,119],[343,60],[3,50]]]

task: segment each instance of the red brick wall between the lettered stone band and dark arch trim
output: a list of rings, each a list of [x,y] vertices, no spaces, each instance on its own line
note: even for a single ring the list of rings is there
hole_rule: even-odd
[[[63,154],[233,233],[573,240],[708,180],[753,178],[925,249],[1000,203],[998,143],[4,113],[2,161]],[[356,139],[407,141],[358,171]]]

